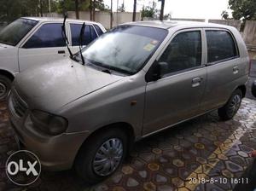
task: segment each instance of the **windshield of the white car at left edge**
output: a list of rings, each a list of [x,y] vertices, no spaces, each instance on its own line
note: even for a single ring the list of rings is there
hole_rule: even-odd
[[[15,46],[38,24],[36,20],[18,19],[3,28],[0,32],[0,43]]]

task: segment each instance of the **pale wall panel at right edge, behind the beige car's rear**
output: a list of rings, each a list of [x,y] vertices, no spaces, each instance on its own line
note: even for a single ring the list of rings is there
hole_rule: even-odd
[[[256,50],[256,21],[247,20],[243,31],[243,39],[248,49]]]

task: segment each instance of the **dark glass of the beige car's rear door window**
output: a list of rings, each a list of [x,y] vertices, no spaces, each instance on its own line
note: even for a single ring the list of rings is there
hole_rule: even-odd
[[[222,61],[238,55],[229,32],[207,31],[208,62]]]

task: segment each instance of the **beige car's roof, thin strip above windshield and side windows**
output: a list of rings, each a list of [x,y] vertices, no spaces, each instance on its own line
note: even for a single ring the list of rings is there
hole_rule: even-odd
[[[174,26],[183,26],[186,28],[189,27],[218,27],[218,28],[230,28],[230,26],[219,25],[214,23],[207,22],[197,22],[197,21],[185,21],[185,20],[148,20],[148,21],[137,21],[125,23],[126,25],[136,25],[136,26],[151,26],[169,29]]]

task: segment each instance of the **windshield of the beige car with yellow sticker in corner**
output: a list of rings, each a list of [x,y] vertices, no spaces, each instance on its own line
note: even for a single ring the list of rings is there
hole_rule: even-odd
[[[166,29],[156,27],[118,26],[90,43],[82,54],[86,63],[134,74],[154,54],[167,33]]]

